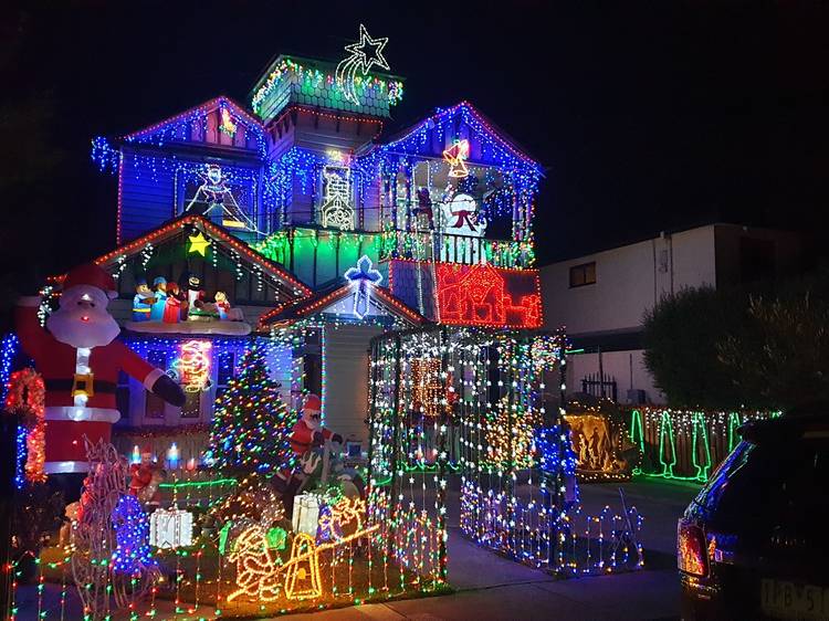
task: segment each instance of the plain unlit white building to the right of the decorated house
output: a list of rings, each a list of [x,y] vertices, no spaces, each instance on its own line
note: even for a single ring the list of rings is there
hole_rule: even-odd
[[[644,313],[683,288],[780,276],[800,260],[795,233],[710,224],[543,267],[545,323],[566,326],[574,350],[584,349],[569,357],[569,391],[663,403],[644,367]]]

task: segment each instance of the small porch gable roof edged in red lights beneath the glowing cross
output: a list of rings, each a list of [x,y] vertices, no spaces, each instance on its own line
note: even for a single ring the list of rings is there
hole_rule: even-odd
[[[336,278],[309,297],[286,302],[285,304],[269,310],[260,317],[259,327],[260,329],[263,329],[272,324],[294,322],[296,319],[309,317],[314,313],[318,313],[327,306],[336,304],[340,299],[345,299],[351,295],[354,295],[351,284],[343,277]],[[408,322],[412,326],[420,326],[428,323],[426,317],[410,308],[386,287],[372,287],[371,295],[372,301],[376,304],[384,307],[396,317]]]

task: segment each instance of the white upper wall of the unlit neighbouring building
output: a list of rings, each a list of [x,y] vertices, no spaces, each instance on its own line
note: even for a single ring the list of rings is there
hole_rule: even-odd
[[[596,283],[570,288],[569,270],[596,262]],[[546,327],[629,330],[664,294],[716,284],[714,227],[701,227],[542,267]]]

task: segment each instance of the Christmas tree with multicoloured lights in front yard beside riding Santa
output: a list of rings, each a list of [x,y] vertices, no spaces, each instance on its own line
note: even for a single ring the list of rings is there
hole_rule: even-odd
[[[239,375],[217,399],[210,450],[219,469],[271,474],[293,467],[295,456],[288,442],[293,421],[279,388],[267,372],[262,349],[248,349]]]

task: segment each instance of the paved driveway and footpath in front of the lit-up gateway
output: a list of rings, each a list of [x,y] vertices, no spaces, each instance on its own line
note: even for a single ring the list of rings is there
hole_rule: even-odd
[[[699,487],[689,483],[639,478],[623,484],[626,502],[644,516],[642,541],[647,569],[632,573],[555,580],[503,559],[468,541],[450,513],[449,579],[458,589],[450,596],[401,600],[382,604],[297,614],[308,621],[412,619],[501,620],[679,619],[679,581],[674,560],[676,518]],[[619,506],[619,485],[584,485],[587,513],[605,505]],[[452,503],[457,511],[457,503]]]

